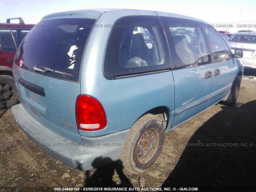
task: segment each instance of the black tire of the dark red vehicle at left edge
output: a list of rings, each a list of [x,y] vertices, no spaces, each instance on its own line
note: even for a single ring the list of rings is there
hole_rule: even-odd
[[[0,75],[0,110],[11,108],[19,102],[11,76]]]

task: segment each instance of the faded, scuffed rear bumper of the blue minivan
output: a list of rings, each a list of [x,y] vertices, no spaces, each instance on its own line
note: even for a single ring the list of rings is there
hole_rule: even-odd
[[[118,160],[129,132],[128,129],[100,137],[81,136],[82,142],[76,143],[38,123],[22,104],[13,106],[11,111],[22,131],[33,142],[54,158],[78,170],[91,170]]]

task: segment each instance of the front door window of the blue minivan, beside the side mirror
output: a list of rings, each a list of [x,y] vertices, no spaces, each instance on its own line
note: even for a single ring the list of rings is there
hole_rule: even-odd
[[[224,41],[224,39],[220,36],[220,34],[210,26],[207,26],[205,24],[203,26],[206,30],[206,34],[208,36],[210,46],[212,49],[213,62],[219,62],[222,60],[230,59],[230,49],[226,42]]]

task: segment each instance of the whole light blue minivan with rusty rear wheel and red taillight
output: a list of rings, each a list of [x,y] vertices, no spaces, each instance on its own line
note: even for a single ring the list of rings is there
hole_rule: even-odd
[[[208,23],[146,10],[78,10],[42,18],[13,65],[24,133],[64,164],[120,159],[152,166],[164,134],[222,101],[234,105],[244,68]]]

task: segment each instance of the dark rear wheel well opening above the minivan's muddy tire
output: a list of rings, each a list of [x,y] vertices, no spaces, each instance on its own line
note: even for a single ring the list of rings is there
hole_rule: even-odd
[[[152,114],[152,115],[157,116],[158,118],[160,118],[162,120],[164,129],[167,128],[168,123],[169,123],[169,110],[167,107],[161,106],[161,107],[153,108],[153,109],[147,111],[146,113],[144,113],[142,116],[144,116],[146,114]],[[142,116],[140,116],[140,118]]]

